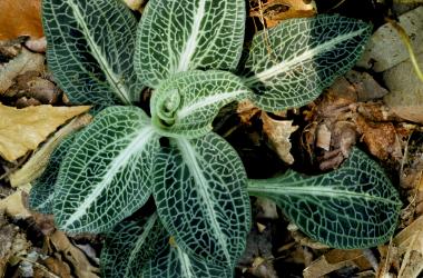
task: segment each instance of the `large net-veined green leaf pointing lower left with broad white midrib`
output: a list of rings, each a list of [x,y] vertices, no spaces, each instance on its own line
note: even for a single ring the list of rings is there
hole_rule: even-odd
[[[55,220],[71,232],[107,231],[150,196],[158,136],[137,107],[109,107],[69,148],[55,188]]]

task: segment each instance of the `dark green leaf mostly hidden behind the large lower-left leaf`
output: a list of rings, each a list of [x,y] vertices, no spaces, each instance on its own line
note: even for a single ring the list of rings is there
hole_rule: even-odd
[[[52,215],[53,192],[60,165],[72,145],[76,133],[66,137],[52,151],[50,161],[42,175],[32,182],[29,193],[29,207],[41,214]]]

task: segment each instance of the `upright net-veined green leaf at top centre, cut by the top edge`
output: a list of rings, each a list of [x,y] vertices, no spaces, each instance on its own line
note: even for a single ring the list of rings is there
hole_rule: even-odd
[[[139,78],[157,88],[180,71],[235,69],[244,29],[244,0],[150,0],[137,33]]]

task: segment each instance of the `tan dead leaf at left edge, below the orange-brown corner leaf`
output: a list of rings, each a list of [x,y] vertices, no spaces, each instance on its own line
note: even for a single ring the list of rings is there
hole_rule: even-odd
[[[27,71],[41,72],[45,69],[45,56],[32,53],[22,48],[22,51],[6,64],[0,64],[0,95],[13,85],[13,79]]]

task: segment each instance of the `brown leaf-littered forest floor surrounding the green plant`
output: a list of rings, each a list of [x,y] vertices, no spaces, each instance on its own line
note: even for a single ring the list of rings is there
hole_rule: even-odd
[[[422,68],[422,6],[419,0],[249,0],[247,37],[264,26],[316,12],[370,21],[376,32],[390,24],[387,18],[414,12],[421,16],[416,29],[404,29]],[[409,278],[423,270],[423,81],[400,36],[391,36],[372,47],[394,46],[382,48],[384,56],[403,57],[396,63],[370,53],[314,102],[272,115],[242,102],[220,111],[215,131],[235,147],[250,178],[288,168],[308,175],[331,171],[357,146],[384,167],[400,192],[403,208],[394,237],[365,250],[328,248],[305,237],[275,203],[254,198],[253,229],[236,277]],[[73,107],[55,83],[45,50],[40,1],[1,0],[0,277],[99,277],[101,237],[68,236],[56,230],[51,216],[27,206],[31,159],[38,161],[33,157],[75,117],[80,126],[89,120],[83,116],[88,108]],[[366,62],[373,64],[366,68]],[[383,69],[372,67],[381,63]],[[38,125],[29,119],[39,119]]]

